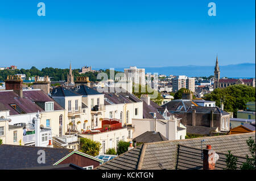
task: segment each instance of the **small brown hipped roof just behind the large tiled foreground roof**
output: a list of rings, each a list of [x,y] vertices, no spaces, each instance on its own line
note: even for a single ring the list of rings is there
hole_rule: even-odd
[[[133,141],[137,142],[157,142],[157,141],[167,141],[168,139],[163,136],[160,132],[147,131],[143,134],[135,137]]]

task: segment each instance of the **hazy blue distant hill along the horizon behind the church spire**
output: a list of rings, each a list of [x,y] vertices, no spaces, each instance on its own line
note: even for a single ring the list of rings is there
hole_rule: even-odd
[[[139,67],[138,67],[139,68]],[[162,68],[144,68],[146,73],[158,73],[166,75],[187,75],[188,77],[210,76],[214,74],[214,66],[166,66]],[[123,68],[115,68],[123,71]],[[245,63],[236,65],[220,66],[221,77],[255,77],[255,64]]]

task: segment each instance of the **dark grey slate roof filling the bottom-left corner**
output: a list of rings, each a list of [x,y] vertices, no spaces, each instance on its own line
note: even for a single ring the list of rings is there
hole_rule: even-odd
[[[0,169],[23,169],[28,167],[42,166],[38,163],[38,151],[46,153],[46,163],[50,166],[68,155],[73,150],[64,148],[47,148],[37,146],[0,145]]]

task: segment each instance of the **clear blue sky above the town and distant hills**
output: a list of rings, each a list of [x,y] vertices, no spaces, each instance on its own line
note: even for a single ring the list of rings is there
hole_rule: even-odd
[[[217,53],[220,65],[255,63],[254,0],[0,2],[0,66],[214,65]]]

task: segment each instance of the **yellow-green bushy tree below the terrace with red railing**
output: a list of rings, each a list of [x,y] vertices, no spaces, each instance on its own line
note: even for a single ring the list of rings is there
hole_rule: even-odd
[[[100,153],[101,143],[88,138],[80,138],[80,149],[82,153],[95,157]]]

